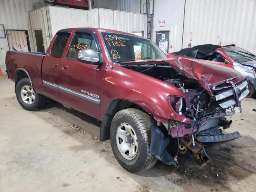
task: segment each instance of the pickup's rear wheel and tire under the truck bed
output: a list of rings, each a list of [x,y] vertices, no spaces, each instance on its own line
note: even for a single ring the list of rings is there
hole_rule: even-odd
[[[34,92],[29,78],[23,78],[17,83],[15,93],[20,106],[29,111],[37,110],[46,103],[45,96]]]

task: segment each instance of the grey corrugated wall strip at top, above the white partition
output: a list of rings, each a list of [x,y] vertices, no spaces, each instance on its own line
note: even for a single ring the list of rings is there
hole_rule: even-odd
[[[96,8],[140,13],[140,0],[94,0]]]

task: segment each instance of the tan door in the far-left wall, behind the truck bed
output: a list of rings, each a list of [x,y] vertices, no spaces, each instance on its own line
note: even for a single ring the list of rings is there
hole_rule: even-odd
[[[28,31],[6,30],[9,50],[31,51]]]

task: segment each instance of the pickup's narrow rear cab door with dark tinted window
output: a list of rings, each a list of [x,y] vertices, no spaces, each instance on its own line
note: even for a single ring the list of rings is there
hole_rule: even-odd
[[[59,80],[62,63],[62,54],[68,41],[70,33],[67,31],[58,32],[52,44],[52,48],[44,57],[42,64],[42,80],[44,95],[59,101]]]

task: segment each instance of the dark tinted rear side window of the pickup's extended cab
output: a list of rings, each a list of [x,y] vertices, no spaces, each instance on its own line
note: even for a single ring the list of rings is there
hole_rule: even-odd
[[[61,58],[69,35],[69,33],[58,33],[58,36],[56,37],[51,49],[51,55],[53,57]]]

